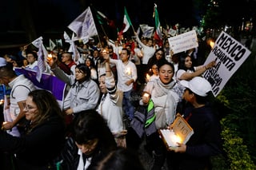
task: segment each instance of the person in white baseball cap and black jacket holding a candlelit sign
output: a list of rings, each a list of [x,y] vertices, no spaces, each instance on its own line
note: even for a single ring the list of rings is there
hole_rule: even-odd
[[[211,85],[203,77],[180,83],[186,87],[183,98],[190,103],[182,114],[194,134],[186,144],[177,143],[178,147],[167,153],[168,169],[210,169],[210,156],[222,152],[220,124],[208,101]]]

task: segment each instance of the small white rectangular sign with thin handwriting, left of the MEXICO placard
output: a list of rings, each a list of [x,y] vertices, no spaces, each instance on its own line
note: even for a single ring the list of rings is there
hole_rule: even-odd
[[[198,47],[198,37],[195,30],[190,30],[189,32],[168,38],[168,42],[170,49],[172,49],[174,53]]]

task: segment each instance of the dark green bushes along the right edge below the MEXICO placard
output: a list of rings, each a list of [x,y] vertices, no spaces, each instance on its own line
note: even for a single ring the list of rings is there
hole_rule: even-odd
[[[222,118],[223,150],[230,169],[256,169],[256,71],[251,54],[216,97],[226,107]]]

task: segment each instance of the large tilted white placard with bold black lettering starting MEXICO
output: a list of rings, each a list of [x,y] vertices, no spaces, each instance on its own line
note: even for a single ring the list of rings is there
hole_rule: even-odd
[[[212,86],[214,97],[221,92],[226,82],[249,55],[249,49],[232,38],[229,34],[222,31],[204,64],[206,65],[210,61],[216,61],[214,68],[207,69],[206,72],[203,73],[203,77],[205,77]]]

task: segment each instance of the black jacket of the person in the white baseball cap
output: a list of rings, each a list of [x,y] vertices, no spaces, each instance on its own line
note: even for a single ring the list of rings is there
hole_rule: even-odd
[[[186,143],[185,153],[170,152],[173,169],[204,169],[210,156],[222,153],[221,128],[210,106],[185,109],[184,118],[193,128],[194,134]]]

